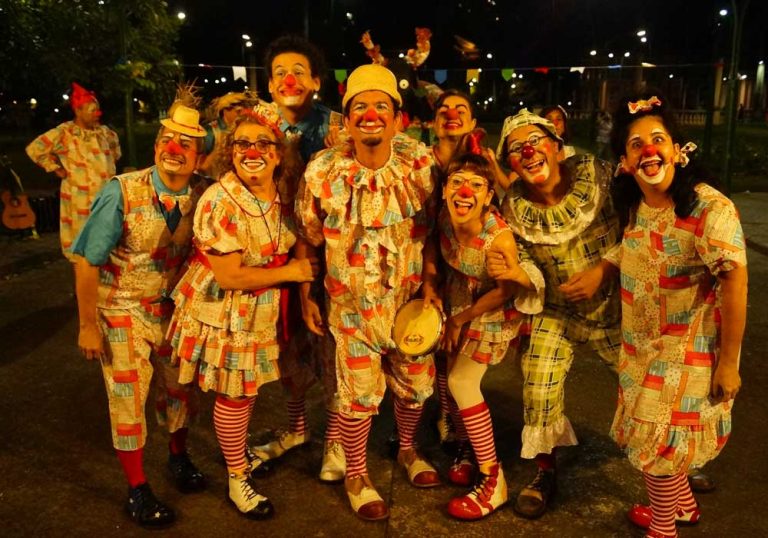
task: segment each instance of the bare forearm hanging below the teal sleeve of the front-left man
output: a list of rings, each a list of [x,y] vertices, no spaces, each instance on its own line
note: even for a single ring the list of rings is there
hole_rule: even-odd
[[[80,332],[77,345],[88,360],[104,355],[104,337],[99,328],[96,303],[99,295],[99,268],[78,256],[75,263],[75,288]]]

